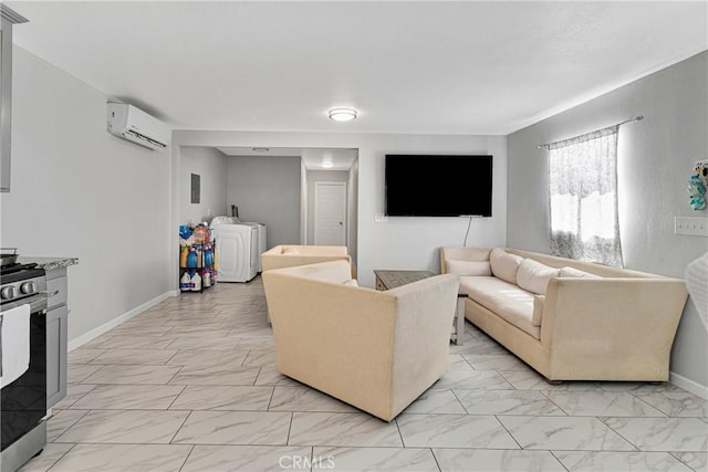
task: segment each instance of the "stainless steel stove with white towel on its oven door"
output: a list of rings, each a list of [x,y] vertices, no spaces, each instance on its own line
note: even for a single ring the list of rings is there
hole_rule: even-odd
[[[17,259],[17,258],[15,258]],[[11,260],[11,259],[10,259]],[[46,444],[46,276],[37,264],[6,263],[0,265],[0,471],[14,472],[42,451]],[[15,369],[17,378],[8,374],[9,359],[18,347],[8,326],[13,316],[27,316],[29,305],[29,365]],[[3,331],[3,325],[6,329]],[[17,356],[15,356],[17,357]],[[21,371],[21,374],[20,374]]]

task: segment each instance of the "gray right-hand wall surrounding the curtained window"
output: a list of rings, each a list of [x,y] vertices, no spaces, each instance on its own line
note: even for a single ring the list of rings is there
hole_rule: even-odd
[[[620,220],[625,266],[683,277],[708,251],[708,239],[674,234],[674,217],[706,217],[688,204],[694,162],[708,156],[708,53],[623,86],[509,136],[510,247],[549,252],[546,154],[539,144],[643,115],[620,130]],[[674,344],[671,371],[708,386],[708,335],[686,305]]]

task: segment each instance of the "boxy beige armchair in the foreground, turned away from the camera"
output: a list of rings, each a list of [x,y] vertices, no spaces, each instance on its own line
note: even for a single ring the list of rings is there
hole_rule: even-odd
[[[448,371],[456,276],[387,292],[357,286],[346,261],[262,276],[280,373],[391,421]]]

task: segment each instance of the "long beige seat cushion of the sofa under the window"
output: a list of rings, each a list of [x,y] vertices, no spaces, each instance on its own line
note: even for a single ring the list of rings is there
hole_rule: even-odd
[[[461,276],[459,290],[519,329],[541,338],[541,327],[533,323],[533,293],[493,276]]]

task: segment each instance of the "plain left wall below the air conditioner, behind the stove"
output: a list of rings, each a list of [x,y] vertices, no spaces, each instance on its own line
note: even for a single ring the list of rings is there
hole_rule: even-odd
[[[69,269],[71,340],[175,289],[170,150],[110,135],[105,95],[18,46],[13,59],[0,237],[22,255],[79,258]]]

